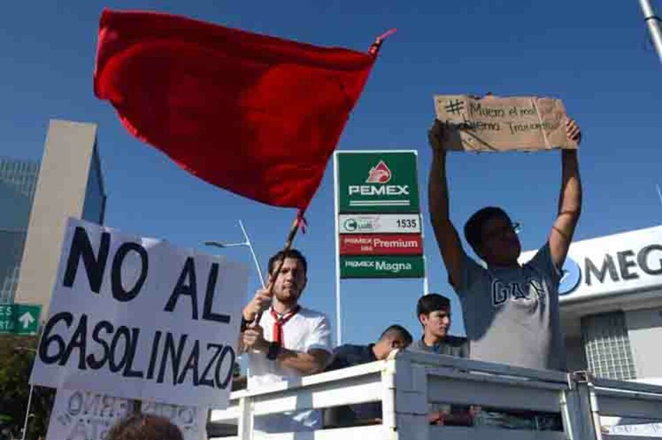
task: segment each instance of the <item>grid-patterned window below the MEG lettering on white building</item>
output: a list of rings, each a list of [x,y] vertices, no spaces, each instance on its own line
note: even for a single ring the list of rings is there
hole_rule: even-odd
[[[623,312],[585,316],[581,327],[588,368],[596,377],[636,379]]]

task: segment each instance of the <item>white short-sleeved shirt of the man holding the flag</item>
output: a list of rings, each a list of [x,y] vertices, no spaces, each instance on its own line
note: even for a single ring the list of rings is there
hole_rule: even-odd
[[[265,311],[260,320],[265,340],[273,340],[274,318]],[[300,307],[298,313],[283,326],[283,346],[297,352],[323,349],[331,354],[331,327],[323,313]],[[295,381],[302,374],[286,368],[277,361],[267,359],[265,352],[248,352],[248,388],[254,390],[261,385],[282,381]],[[298,411],[255,418],[254,429],[261,432],[291,432],[321,428],[320,411]]]

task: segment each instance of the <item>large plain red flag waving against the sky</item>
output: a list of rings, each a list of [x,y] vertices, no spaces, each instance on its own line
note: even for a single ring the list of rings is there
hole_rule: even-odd
[[[95,95],[199,178],[305,210],[374,63],[159,13],[104,10]]]

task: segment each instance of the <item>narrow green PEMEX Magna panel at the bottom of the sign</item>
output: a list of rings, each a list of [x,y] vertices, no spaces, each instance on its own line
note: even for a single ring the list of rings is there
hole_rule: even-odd
[[[422,256],[341,256],[340,278],[423,278]]]

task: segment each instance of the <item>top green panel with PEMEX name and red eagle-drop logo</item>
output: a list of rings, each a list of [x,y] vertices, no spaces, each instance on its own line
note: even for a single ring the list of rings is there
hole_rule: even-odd
[[[419,212],[416,152],[337,152],[339,213]]]

